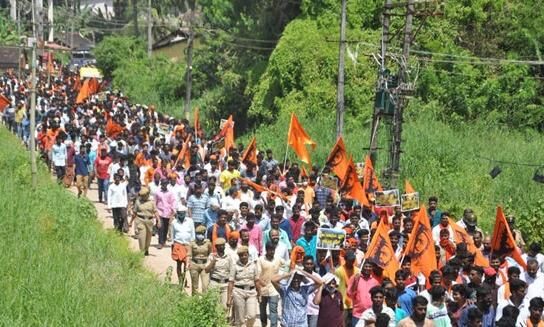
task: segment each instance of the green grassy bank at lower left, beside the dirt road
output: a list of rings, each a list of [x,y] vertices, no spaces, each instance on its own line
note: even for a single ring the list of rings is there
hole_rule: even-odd
[[[188,297],[142,267],[93,205],[57,186],[0,128],[1,326],[223,326],[214,294]]]

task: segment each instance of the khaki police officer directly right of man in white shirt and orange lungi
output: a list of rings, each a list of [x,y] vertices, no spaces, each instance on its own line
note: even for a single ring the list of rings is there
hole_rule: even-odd
[[[188,266],[191,274],[191,294],[196,294],[198,282],[202,283],[202,293],[208,289],[209,277],[205,268],[208,264],[208,257],[212,253],[212,242],[206,239],[206,227],[200,225],[195,230],[195,240],[189,246]]]

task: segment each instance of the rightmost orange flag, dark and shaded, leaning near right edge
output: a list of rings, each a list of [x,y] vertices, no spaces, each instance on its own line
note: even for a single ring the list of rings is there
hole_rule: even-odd
[[[509,256],[516,260],[523,269],[527,269],[501,207],[497,207],[495,228],[493,228],[493,237],[491,238],[491,253]]]

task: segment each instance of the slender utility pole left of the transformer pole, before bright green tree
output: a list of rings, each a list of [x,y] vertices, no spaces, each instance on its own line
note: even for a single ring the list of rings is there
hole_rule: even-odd
[[[336,87],[336,138],[342,136],[344,130],[344,57],[346,55],[346,6],[347,0],[342,0],[340,15],[340,49],[338,53],[338,85]]]

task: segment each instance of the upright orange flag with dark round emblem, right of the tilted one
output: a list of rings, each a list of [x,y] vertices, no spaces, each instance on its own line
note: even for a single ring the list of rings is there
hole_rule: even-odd
[[[421,206],[414,219],[414,228],[410,236],[403,255],[410,257],[412,261],[412,274],[417,275],[421,272],[428,277],[431,271],[436,269],[436,256],[425,205]]]

